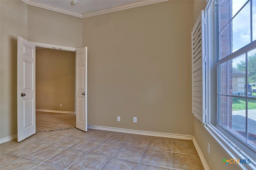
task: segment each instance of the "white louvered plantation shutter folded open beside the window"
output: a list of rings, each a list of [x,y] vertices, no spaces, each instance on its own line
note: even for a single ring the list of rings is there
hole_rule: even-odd
[[[205,123],[204,10],[192,30],[192,114]]]

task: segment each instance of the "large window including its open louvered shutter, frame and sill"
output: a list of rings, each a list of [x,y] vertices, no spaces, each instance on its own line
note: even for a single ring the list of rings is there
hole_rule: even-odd
[[[192,30],[193,114],[199,113],[196,117],[232,158],[251,160],[241,168],[256,169],[256,0],[208,0],[198,21],[202,36],[194,31],[200,25]]]

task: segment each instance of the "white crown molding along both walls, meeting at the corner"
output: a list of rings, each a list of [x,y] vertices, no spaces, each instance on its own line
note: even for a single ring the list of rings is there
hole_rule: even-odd
[[[74,12],[74,11],[70,11],[70,10],[66,10],[66,9],[63,9],[63,8],[59,8],[59,7],[56,7],[56,6],[44,4],[42,2],[38,2],[38,1],[34,1],[34,0],[22,0],[22,1],[25,2],[28,5],[37,6],[37,7],[40,7],[40,8],[60,12],[60,13],[63,13],[63,14],[68,14],[68,15],[71,15],[71,16],[76,16],[76,17],[79,17],[79,18],[86,18],[86,17],[90,17],[90,16],[106,14],[106,13],[109,13],[109,12],[115,12],[115,11],[125,10],[125,9],[129,9],[129,8],[135,8],[135,7],[138,7],[138,6],[155,4],[155,3],[158,3],[158,2],[164,2],[164,1],[168,1],[168,0],[142,0],[142,1],[139,1],[139,2],[131,3],[131,4],[124,4],[124,5],[120,5],[120,6],[114,6],[114,7],[111,7],[111,8],[106,8],[106,9],[92,11],[92,12],[86,12],[86,13],[83,13],[83,14],[78,13],[78,12]]]

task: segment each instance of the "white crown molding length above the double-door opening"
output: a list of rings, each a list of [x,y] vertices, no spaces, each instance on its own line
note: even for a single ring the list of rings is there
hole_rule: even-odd
[[[22,0],[22,1],[25,2],[28,5],[37,6],[37,7],[40,7],[40,8],[47,9],[47,10],[52,10],[52,11],[60,12],[60,13],[63,13],[63,14],[68,14],[68,15],[72,15],[72,16],[82,18],[82,14],[80,14],[78,12],[66,10],[66,9],[63,9],[63,8],[59,8],[59,7],[56,7],[56,6],[44,4],[42,2],[37,2],[37,1],[34,1],[34,0]]]

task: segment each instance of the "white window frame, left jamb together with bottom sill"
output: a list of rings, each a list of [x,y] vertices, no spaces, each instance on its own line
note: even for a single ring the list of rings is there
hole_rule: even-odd
[[[205,8],[205,53],[208,57],[208,63],[206,64],[206,124],[204,127],[206,130],[217,140],[217,142],[228,152],[232,158],[236,159],[250,159],[250,164],[239,164],[243,169],[256,169],[256,161],[253,156],[255,151],[249,148],[244,142],[241,142],[238,138],[233,136],[230,132],[224,130],[217,122],[217,65],[218,61],[218,1],[208,0]],[[252,25],[252,24],[251,24]],[[253,43],[253,44],[252,44]],[[248,49],[252,45],[256,44],[256,41],[242,47],[241,49]],[[249,50],[248,50],[249,51]],[[230,54],[232,56],[239,56],[242,54],[241,50],[235,51]],[[228,57],[227,59],[230,59]]]

